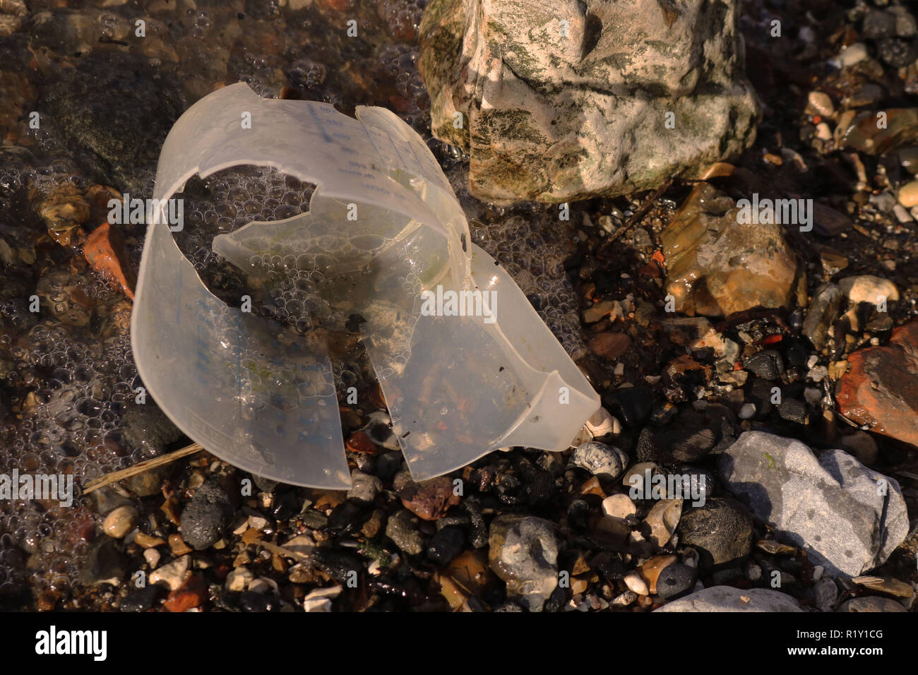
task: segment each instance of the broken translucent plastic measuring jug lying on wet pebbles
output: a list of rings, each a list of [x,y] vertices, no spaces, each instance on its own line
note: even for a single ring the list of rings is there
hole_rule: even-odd
[[[243,123],[248,119],[250,123]],[[498,263],[420,137],[381,107],[263,99],[232,84],[185,111],[162,146],[154,203],[231,166],[317,185],[309,210],[251,222],[213,250],[308,270],[357,314],[413,478],[510,445],[565,450],[599,396]],[[445,300],[443,299],[445,298]],[[465,309],[468,309],[467,311]],[[322,332],[301,335],[214,296],[154,213],[131,320],[140,377],[175,425],[230,464],[275,480],[351,486]]]

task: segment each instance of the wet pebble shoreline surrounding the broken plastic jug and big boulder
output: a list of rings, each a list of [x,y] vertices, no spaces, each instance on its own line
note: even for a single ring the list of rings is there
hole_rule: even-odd
[[[912,609],[918,432],[896,422],[918,411],[907,409],[918,405],[918,366],[910,347],[887,347],[918,316],[918,28],[907,7],[744,3],[746,65],[763,107],[755,144],[703,184],[675,180],[640,218],[647,194],[573,203],[559,219],[556,205],[477,201],[467,157],[431,138],[414,67],[423,0],[63,5],[0,4],[0,100],[12,104],[0,107],[0,473],[72,474],[77,495],[68,508],[0,501],[0,608],[643,612],[718,586],[778,609]],[[136,17],[144,39],[131,37]],[[331,339],[351,491],[278,484],[200,452],[82,493],[190,443],[154,401],[135,399],[129,298],[89,263],[86,242],[107,198],[151,195],[174,119],[239,80],[348,114],[386,106],[429,142],[476,242],[601,396],[605,415],[576,447],[510,448],[415,483],[359,335],[344,329]],[[888,128],[865,126],[879,111]],[[711,192],[699,205],[703,185]],[[683,298],[673,283],[689,242],[668,228],[713,228],[727,216],[711,205],[752,193],[821,209],[812,231],[778,228],[783,257],[749,237],[744,254],[794,270],[783,287],[753,292],[762,304],[770,292],[788,301],[703,316],[689,307],[709,298],[691,289]],[[213,236],[286,218],[310,194],[272,171],[189,181],[191,227],[176,241],[229,298],[244,280],[209,251]],[[128,276],[143,231],[121,234],[116,266]],[[726,297],[749,291],[742,277],[722,278]],[[689,310],[675,310],[683,301]],[[258,310],[307,330],[276,307]],[[896,334],[912,344],[908,330]],[[870,366],[870,348],[896,350],[882,362],[899,366]],[[865,399],[863,381],[901,397]],[[351,386],[355,404],[343,393]],[[746,451],[770,464],[759,468]],[[783,504],[765,517],[741,486],[778,476],[780,492],[792,478],[781,483],[781,472],[812,456],[812,481],[786,501],[803,495],[822,509],[820,526],[851,528],[850,544],[814,542]],[[826,487],[835,465],[846,467],[845,489]],[[871,472],[895,481],[889,500],[856,493]],[[661,499],[655,476],[692,477],[695,492]],[[894,550],[877,541],[887,534],[901,541]]]

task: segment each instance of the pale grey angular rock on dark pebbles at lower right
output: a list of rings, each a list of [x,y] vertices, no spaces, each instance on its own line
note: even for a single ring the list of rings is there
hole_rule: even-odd
[[[831,575],[878,567],[908,535],[899,483],[844,450],[746,432],[718,461],[724,486]]]

